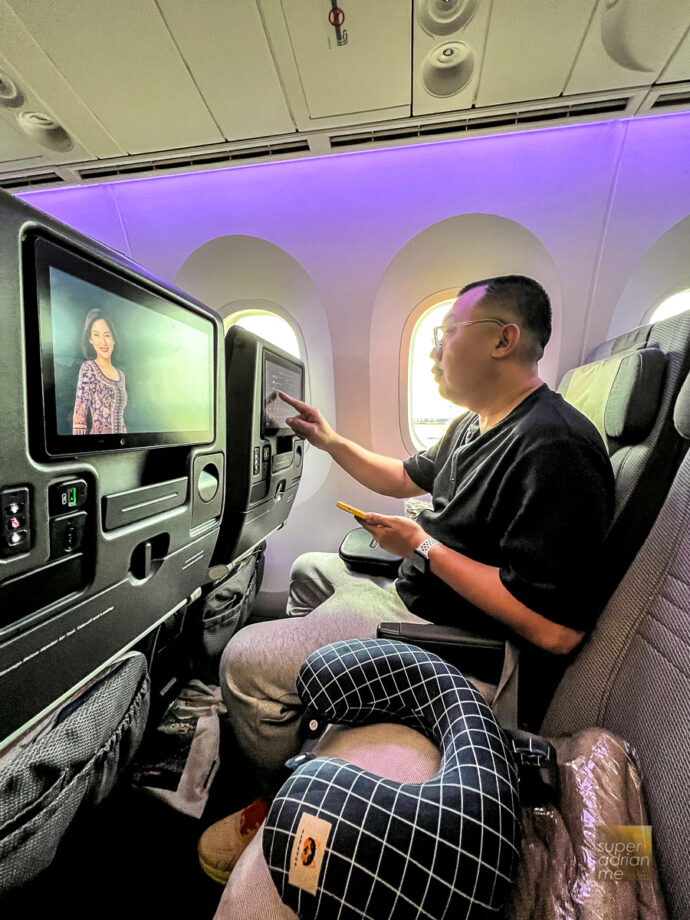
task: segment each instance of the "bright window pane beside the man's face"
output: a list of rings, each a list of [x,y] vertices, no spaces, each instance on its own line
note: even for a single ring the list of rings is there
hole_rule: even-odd
[[[431,374],[429,353],[433,348],[433,329],[442,324],[454,302],[455,297],[434,304],[422,313],[412,330],[407,378],[408,424],[412,441],[421,450],[435,444],[450,422],[468,411],[443,399]]]

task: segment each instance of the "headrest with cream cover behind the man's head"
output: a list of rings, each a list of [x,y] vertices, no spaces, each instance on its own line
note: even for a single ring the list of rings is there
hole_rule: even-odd
[[[609,440],[637,444],[649,434],[657,416],[666,355],[659,348],[639,348],[568,371],[558,392],[584,413]]]

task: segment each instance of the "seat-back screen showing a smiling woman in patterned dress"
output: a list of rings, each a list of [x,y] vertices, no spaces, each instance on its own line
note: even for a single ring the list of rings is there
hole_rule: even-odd
[[[210,318],[43,238],[34,266],[49,455],[213,439]]]

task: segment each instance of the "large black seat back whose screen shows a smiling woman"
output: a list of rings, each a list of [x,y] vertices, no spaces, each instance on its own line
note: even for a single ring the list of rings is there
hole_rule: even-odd
[[[219,533],[225,403],[204,304],[2,190],[0,256],[2,891],[141,740]]]

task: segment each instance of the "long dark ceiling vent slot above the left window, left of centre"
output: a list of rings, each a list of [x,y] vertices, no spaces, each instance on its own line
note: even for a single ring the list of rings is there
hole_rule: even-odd
[[[279,141],[274,144],[262,144],[251,147],[238,147],[196,153],[186,157],[151,158],[146,160],[120,160],[119,162],[100,163],[98,166],[87,166],[77,170],[81,179],[116,179],[125,176],[145,176],[151,173],[170,175],[189,169],[204,169],[218,166],[232,166],[233,163],[252,160],[265,160],[267,157],[279,157],[297,153],[308,153],[309,142],[306,138]]]

